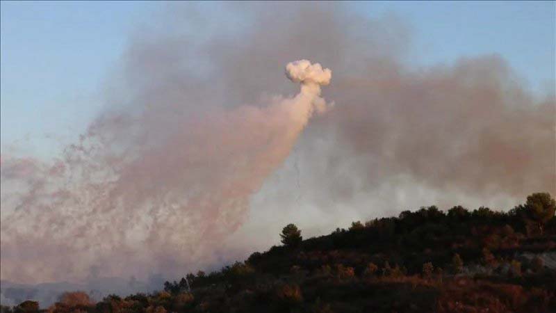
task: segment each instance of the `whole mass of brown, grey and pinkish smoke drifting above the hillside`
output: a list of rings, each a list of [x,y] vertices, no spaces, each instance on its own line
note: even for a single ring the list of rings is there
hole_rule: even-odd
[[[555,97],[532,95],[500,56],[413,70],[395,17],[331,3],[227,10],[222,22],[172,6],[134,36],[106,110],[59,160],[3,156],[2,279],[172,277],[269,246],[286,220],[325,225],[315,234],[556,193]],[[272,96],[292,93],[281,66],[300,58],[334,69],[334,107],[320,98],[331,73],[309,61],[286,66],[298,95]]]

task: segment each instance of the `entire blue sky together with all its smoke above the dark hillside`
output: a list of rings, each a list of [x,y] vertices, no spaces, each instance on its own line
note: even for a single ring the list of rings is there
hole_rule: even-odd
[[[553,2],[1,9],[3,280],[176,278],[286,223],[556,193]]]

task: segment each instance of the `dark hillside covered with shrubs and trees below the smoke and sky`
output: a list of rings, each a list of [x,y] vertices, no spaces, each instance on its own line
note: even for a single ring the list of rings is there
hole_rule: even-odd
[[[556,312],[556,202],[534,193],[509,212],[436,207],[354,222],[163,291],[93,303],[72,292],[48,312]],[[547,257],[548,256],[548,257]],[[554,259],[552,259],[554,260]],[[39,312],[25,301],[2,312]]]

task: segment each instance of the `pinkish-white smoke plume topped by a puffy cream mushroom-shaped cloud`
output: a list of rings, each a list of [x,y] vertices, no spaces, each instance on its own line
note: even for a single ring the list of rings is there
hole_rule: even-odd
[[[108,115],[54,166],[3,159],[2,183],[27,193],[3,195],[3,206],[14,203],[3,207],[2,278],[185,271],[202,262],[243,223],[250,195],[288,157],[311,115],[327,109],[320,86],[329,69],[302,60],[288,63],[286,75],[301,84],[295,97],[184,120],[155,142],[114,145],[107,136],[121,133],[115,128],[133,131],[140,120]]]

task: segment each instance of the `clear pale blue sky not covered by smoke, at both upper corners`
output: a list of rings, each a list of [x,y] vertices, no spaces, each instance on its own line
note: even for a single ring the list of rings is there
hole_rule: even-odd
[[[161,2],[1,2],[1,150],[50,155],[73,141],[103,104],[103,80],[130,35]],[[220,3],[204,4],[220,14]],[[500,54],[537,94],[553,90],[555,2],[353,3],[398,15],[411,29],[406,61],[420,67]]]

